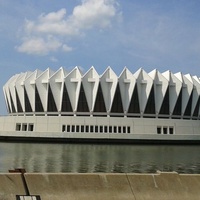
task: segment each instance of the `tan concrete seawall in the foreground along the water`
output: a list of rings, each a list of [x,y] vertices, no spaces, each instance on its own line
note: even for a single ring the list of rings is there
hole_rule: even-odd
[[[16,199],[16,195],[38,195],[41,200],[199,200],[200,175],[175,172],[0,174],[0,200]]]

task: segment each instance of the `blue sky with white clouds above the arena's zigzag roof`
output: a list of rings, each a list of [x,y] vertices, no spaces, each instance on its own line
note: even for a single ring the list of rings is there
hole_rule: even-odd
[[[0,0],[0,88],[17,73],[61,66],[200,77],[199,9],[199,0]]]

